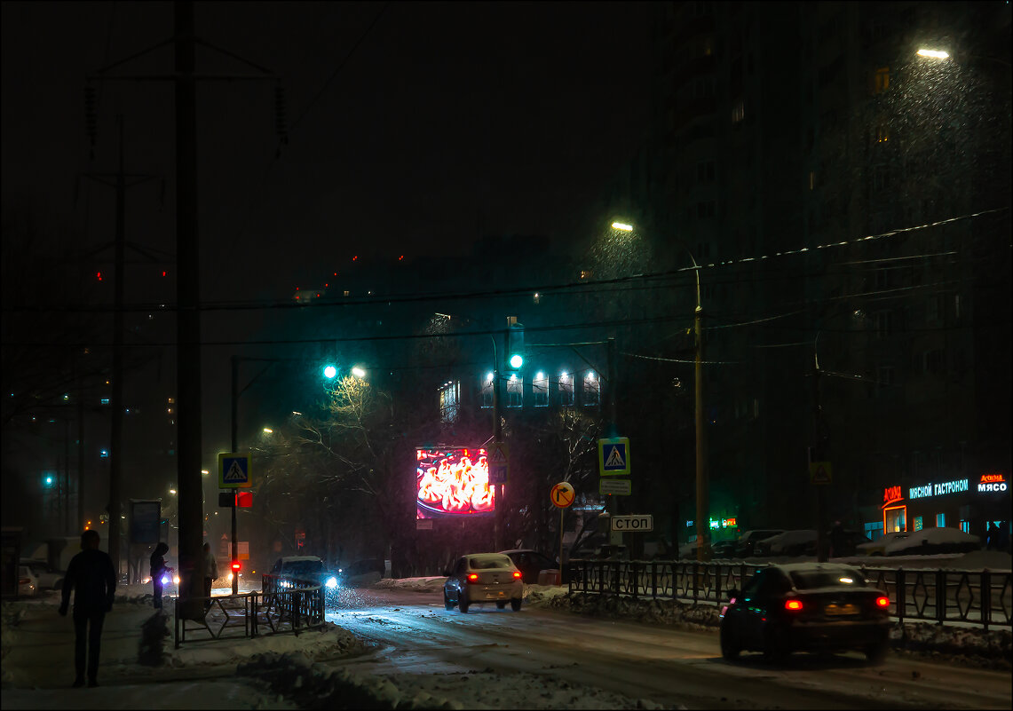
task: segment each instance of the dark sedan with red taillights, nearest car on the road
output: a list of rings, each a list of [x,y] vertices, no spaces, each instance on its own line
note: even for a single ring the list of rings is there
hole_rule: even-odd
[[[744,650],[784,660],[795,651],[863,652],[880,662],[889,649],[889,598],[850,565],[770,565],[720,613],[721,655]]]

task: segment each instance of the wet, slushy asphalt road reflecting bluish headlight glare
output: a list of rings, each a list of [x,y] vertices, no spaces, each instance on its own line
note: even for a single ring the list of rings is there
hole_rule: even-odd
[[[716,632],[684,631],[562,611],[475,606],[446,611],[440,592],[345,591],[328,620],[377,642],[352,672],[515,672],[690,709],[1013,708],[1011,675],[855,653],[721,658]],[[504,693],[503,708],[512,708]]]

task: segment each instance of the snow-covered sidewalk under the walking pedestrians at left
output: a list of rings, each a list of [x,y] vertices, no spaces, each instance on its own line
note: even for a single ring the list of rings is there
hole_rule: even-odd
[[[4,602],[2,608],[3,708],[145,708],[145,709],[292,709],[295,704],[272,694],[257,679],[236,677],[236,666],[267,651],[301,651],[314,656],[342,655],[358,641],[334,626],[322,632],[187,642],[173,648],[172,601],[166,600],[169,636],[165,661],[139,661],[144,623],[155,610],[150,597],[118,596],[102,628],[97,689],[73,689],[74,623],[58,614],[59,595]]]

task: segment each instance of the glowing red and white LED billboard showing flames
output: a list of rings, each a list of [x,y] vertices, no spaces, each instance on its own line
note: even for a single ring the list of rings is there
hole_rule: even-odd
[[[417,448],[415,518],[467,518],[495,510],[486,455],[484,449]]]

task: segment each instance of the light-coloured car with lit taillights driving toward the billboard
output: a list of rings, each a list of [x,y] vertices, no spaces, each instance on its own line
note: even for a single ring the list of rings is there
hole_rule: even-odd
[[[444,607],[456,606],[467,613],[472,605],[495,603],[502,610],[510,603],[520,612],[524,602],[524,573],[510,556],[502,553],[470,553],[458,558],[454,567],[444,572]]]

